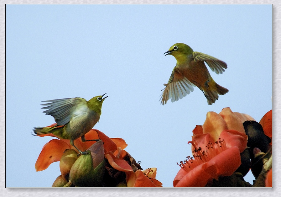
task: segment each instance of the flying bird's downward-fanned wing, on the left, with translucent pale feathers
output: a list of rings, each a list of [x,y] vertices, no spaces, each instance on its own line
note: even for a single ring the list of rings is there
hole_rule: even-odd
[[[164,86],[166,87],[163,89],[164,91],[161,95],[161,103],[163,105],[166,104],[169,99],[171,99],[172,102],[182,99],[194,90],[192,86],[195,85],[192,84],[186,77],[184,77],[179,72],[178,67],[174,67],[174,70],[171,74],[168,83],[164,84]]]

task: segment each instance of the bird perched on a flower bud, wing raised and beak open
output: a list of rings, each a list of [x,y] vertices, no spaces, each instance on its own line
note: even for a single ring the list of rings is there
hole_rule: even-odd
[[[85,134],[88,133],[94,125],[100,120],[101,105],[108,96],[96,96],[86,101],[86,99],[75,97],[67,99],[54,99],[42,102],[48,102],[46,107],[41,109],[48,109],[43,111],[46,115],[51,115],[55,118],[56,125],[52,127],[35,127],[32,131],[33,136],[52,133],[55,136],[70,140],[70,144],[74,146],[80,154],[82,152],[74,145],[74,140],[81,137],[85,141],[99,141],[86,140]]]

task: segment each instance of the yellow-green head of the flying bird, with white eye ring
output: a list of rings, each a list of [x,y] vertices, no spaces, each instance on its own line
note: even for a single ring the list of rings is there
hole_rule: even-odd
[[[189,45],[186,45],[184,43],[176,43],[169,48],[169,51],[165,53],[167,53],[166,55],[174,56],[178,62],[184,62],[186,61],[187,56],[193,53],[193,50]]]

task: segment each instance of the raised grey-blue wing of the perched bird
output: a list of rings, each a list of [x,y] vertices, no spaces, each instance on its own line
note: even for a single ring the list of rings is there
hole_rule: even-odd
[[[87,104],[87,101],[85,99],[78,97],[69,99],[55,99],[43,102],[49,102],[46,104],[41,104],[48,105],[47,107],[42,108],[48,109],[46,111],[43,111],[43,113],[53,116],[58,125],[65,125],[70,121],[71,114],[78,104]]]

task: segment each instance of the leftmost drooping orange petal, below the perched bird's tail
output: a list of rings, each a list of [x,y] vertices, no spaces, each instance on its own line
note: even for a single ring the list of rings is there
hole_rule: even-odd
[[[64,141],[53,139],[46,143],[42,151],[39,154],[39,157],[35,163],[36,171],[42,171],[49,167],[53,162],[60,161],[61,156],[63,155],[66,149],[69,149],[70,145]]]

